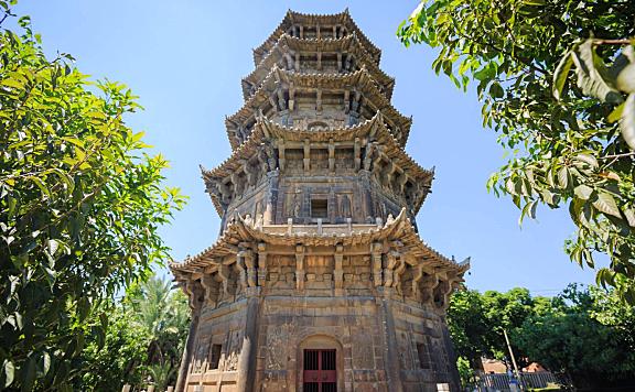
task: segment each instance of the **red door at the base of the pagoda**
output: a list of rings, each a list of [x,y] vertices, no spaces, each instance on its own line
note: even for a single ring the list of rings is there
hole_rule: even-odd
[[[335,350],[304,350],[304,392],[337,392]]]

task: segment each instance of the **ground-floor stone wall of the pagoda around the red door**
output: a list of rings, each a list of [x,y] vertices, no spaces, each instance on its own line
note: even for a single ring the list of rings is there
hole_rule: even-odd
[[[280,294],[259,300],[256,377],[248,390],[301,392],[304,348],[336,350],[340,391],[394,391],[397,384],[403,391],[435,391],[439,382],[452,384],[453,355],[442,317],[432,308],[378,292],[332,297],[312,295],[320,290],[308,287]],[[187,391],[236,388],[246,301],[203,309]],[[213,345],[222,346],[217,369],[211,369]]]

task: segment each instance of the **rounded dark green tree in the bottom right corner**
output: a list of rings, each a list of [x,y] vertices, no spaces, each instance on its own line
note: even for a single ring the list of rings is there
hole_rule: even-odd
[[[528,317],[512,339],[577,388],[634,386],[634,308],[615,292],[570,285],[553,298],[550,312]]]

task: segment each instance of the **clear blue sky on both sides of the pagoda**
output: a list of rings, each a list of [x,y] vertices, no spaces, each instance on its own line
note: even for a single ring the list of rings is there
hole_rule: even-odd
[[[421,237],[458,260],[472,257],[466,282],[480,291],[524,286],[552,295],[569,282],[591,283],[593,272],[563,252],[573,232],[566,209],[539,207],[538,220],[520,228],[512,202],[487,193],[485,182],[503,164],[504,151],[481,127],[475,92],[435,76],[432,50],[405,48],[395,36],[417,1],[22,0],[15,11],[32,17],[51,55],[71,53],[83,73],[125,83],[141,97],[146,110],[129,123],[171,161],[169,185],[190,196],[161,230],[180,260],[218,235],[198,164],[214,167],[229,156],[224,118],[243,104],[240,78],[254,68],[251,48],[288,9],[334,13],[346,7],[383,50],[380,66],[397,80],[395,107],[413,116],[407,152],[437,167],[418,216]]]

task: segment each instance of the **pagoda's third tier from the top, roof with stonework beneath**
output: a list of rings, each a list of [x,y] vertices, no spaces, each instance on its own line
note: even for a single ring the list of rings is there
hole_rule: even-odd
[[[225,123],[232,148],[236,150],[247,140],[260,116],[282,126],[310,119],[311,123],[337,129],[372,119],[378,111],[403,146],[412,119],[392,106],[365,67],[345,74],[301,74],[273,65],[258,90]]]

